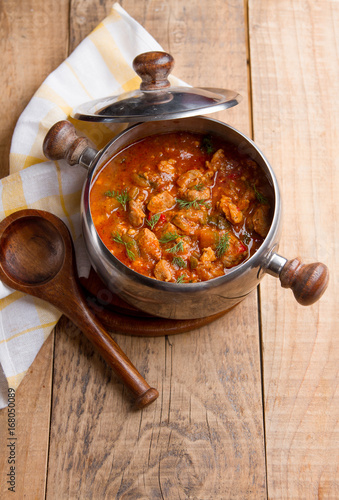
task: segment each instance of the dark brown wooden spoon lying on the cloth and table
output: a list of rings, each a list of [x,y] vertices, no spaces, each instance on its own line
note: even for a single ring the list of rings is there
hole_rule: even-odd
[[[65,224],[40,210],[20,210],[0,223],[0,278],[11,288],[50,302],[97,348],[144,408],[159,393],[143,379],[89,310],[78,281],[74,248]]]

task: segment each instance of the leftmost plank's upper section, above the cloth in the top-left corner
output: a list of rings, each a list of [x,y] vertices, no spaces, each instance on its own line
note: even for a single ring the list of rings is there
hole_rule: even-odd
[[[0,5],[1,116],[0,176],[8,174],[15,124],[43,80],[66,57],[68,0]]]

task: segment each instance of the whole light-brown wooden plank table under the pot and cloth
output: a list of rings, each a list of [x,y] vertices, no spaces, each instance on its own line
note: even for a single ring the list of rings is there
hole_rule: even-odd
[[[267,276],[200,330],[114,335],[159,389],[143,411],[131,411],[122,384],[62,319],[17,391],[16,493],[7,491],[0,412],[0,496],[338,499],[339,3],[120,3],[172,53],[177,76],[243,95],[218,118],[252,136],[273,165],[284,203],[279,252],[325,262],[331,281],[308,308]],[[110,6],[2,0],[2,175],[32,94]]]

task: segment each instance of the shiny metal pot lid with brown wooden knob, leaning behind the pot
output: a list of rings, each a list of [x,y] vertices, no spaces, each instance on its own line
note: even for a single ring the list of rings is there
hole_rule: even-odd
[[[174,65],[166,52],[145,52],[133,61],[140,89],[78,106],[72,117],[90,122],[144,122],[214,113],[236,106],[237,92],[214,88],[172,87],[168,75]]]

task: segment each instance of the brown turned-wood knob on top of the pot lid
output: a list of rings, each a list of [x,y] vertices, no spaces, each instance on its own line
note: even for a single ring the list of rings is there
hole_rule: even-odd
[[[140,90],[162,90],[170,87],[167,77],[174,66],[174,59],[167,52],[144,52],[133,61],[133,69],[142,82]]]

